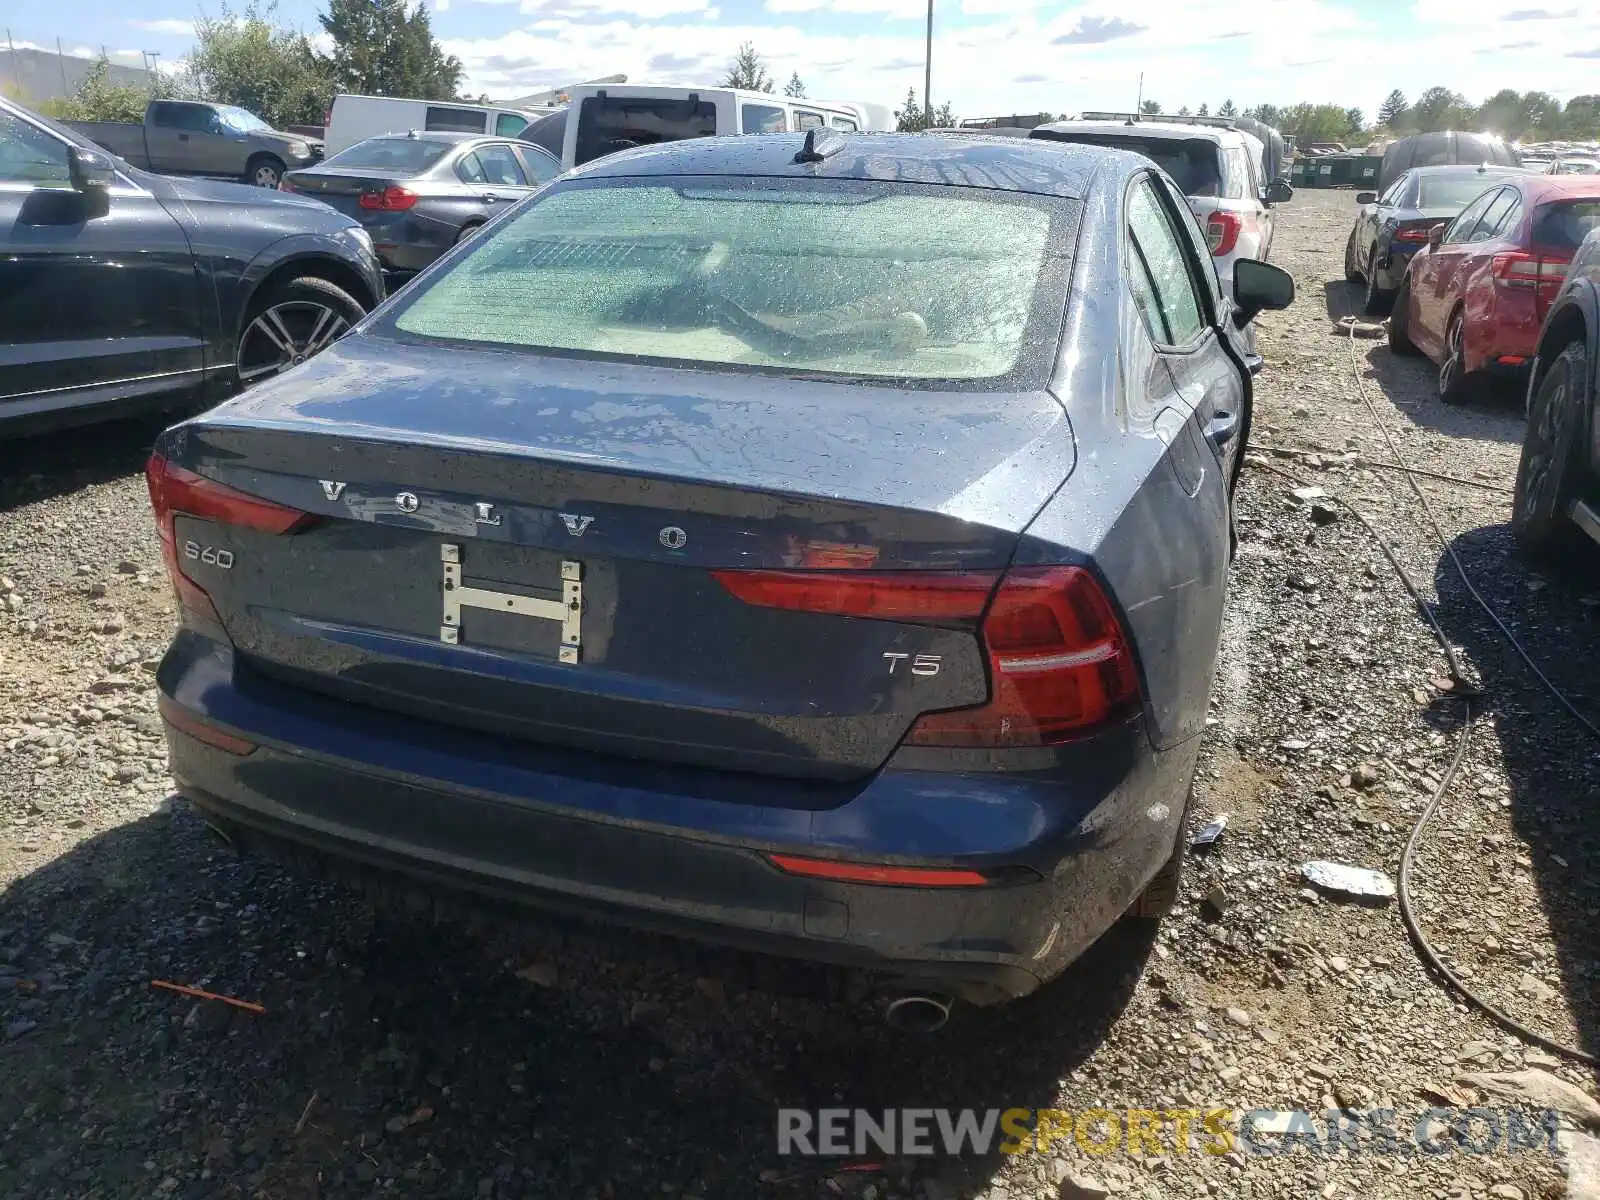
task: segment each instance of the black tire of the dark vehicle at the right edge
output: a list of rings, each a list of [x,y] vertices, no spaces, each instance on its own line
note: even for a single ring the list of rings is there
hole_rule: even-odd
[[[1528,405],[1510,528],[1530,558],[1562,558],[1581,541],[1566,509],[1579,493],[1589,350],[1566,346],[1539,379]]]

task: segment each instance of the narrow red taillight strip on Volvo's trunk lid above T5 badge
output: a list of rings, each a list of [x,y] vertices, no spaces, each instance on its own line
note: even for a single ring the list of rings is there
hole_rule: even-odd
[[[712,571],[747,605],[878,621],[973,621],[998,571]]]

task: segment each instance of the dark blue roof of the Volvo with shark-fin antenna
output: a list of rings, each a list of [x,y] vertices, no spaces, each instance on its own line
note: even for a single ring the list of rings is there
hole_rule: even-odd
[[[819,163],[797,163],[806,134],[763,133],[742,138],[691,138],[597,158],[578,168],[595,178],[747,176],[795,179],[877,179],[949,184],[1082,200],[1107,163],[1131,171],[1139,155],[1091,146],[1024,138],[920,133],[829,133],[837,152]]]

